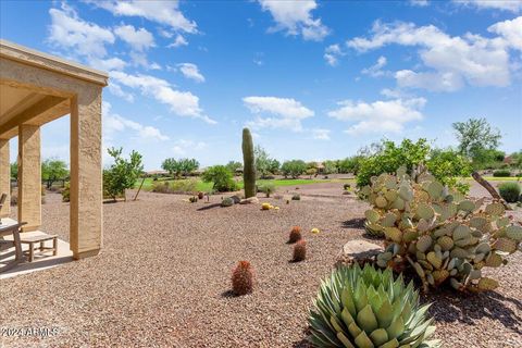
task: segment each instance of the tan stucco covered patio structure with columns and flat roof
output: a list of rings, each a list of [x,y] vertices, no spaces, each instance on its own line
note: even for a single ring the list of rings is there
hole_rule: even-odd
[[[0,196],[7,195],[0,209],[0,229],[16,223],[8,217],[12,209],[10,139],[17,137],[16,216],[25,223],[21,236],[42,234],[40,127],[70,114],[70,251],[63,250],[62,241],[59,252],[61,257],[72,253],[78,260],[100,251],[101,101],[107,82],[103,72],[0,40]],[[24,261],[14,258],[18,263]]]

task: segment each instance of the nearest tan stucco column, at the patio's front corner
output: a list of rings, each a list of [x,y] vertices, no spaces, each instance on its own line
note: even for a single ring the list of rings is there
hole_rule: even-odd
[[[97,254],[102,244],[101,87],[71,99],[71,250]]]

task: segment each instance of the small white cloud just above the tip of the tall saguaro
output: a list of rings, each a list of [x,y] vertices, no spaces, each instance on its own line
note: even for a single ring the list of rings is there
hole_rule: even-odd
[[[252,128],[285,128],[301,132],[301,121],[314,115],[314,112],[290,98],[246,97],[245,105],[257,114],[254,121],[247,124]],[[263,117],[262,114],[271,116]]]

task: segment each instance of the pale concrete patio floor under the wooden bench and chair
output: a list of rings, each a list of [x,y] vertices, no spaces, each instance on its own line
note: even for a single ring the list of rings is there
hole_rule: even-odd
[[[2,219],[2,225],[12,225],[12,224],[16,224],[16,221],[9,217]],[[20,236],[21,238],[24,238],[24,237],[39,236],[44,234],[49,234],[49,233],[45,233],[41,231],[33,231],[33,232],[22,233]],[[4,238],[5,240],[13,240],[12,236],[7,236]],[[50,244],[51,244],[50,240],[46,241],[46,246]],[[22,249],[24,251],[28,250],[28,245],[23,244]],[[0,250],[0,264],[4,264],[13,260],[14,260],[14,248]],[[57,265],[71,262],[71,261],[73,261],[73,252],[70,249],[69,243],[58,238],[57,256],[52,256],[52,251],[50,250],[46,250],[45,252],[41,252],[41,253],[38,250],[35,250],[35,259],[33,262],[28,262],[27,258],[25,258],[25,260],[22,260],[18,264],[8,269],[7,271],[1,272],[0,279],[10,278],[21,274],[47,270],[47,269],[54,268]]]

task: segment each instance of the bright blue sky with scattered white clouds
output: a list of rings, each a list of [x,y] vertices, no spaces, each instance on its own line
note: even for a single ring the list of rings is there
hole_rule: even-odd
[[[206,166],[355,154],[383,137],[455,146],[486,117],[522,148],[522,1],[1,1],[0,37],[109,72],[103,144]],[[16,145],[13,140],[13,159]],[[69,159],[69,119],[42,129]]]

